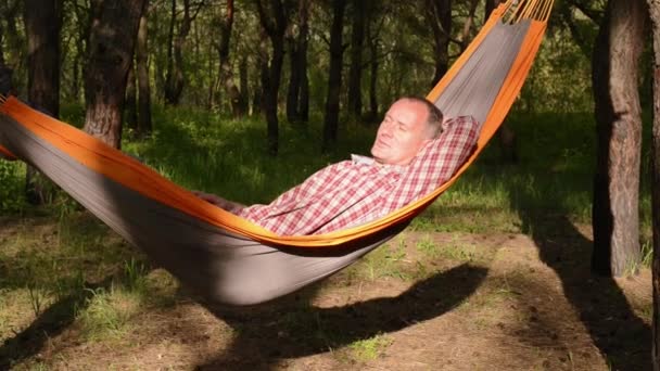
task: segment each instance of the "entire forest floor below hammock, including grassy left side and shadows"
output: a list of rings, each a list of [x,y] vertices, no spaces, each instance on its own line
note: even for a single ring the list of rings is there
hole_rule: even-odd
[[[204,303],[135,263],[140,253],[86,213],[0,218],[0,369],[650,369],[648,268],[595,277],[588,227],[529,218],[543,227],[406,230],[249,308]]]

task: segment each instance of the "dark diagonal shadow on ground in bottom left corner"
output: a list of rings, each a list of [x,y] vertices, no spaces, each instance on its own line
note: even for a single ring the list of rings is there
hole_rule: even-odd
[[[39,355],[52,337],[62,334],[76,319],[76,314],[85,309],[94,291],[109,289],[114,274],[100,283],[86,283],[80,290],[60,298],[25,330],[4,341],[0,346],[0,370],[9,370],[12,364]]]

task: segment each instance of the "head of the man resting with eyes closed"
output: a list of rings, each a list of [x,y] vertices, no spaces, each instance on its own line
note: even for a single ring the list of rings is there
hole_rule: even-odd
[[[404,97],[388,110],[371,155],[386,165],[408,165],[442,131],[442,112],[423,98]]]

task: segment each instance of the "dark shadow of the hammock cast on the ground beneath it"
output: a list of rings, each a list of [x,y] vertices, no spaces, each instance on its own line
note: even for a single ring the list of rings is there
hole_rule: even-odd
[[[195,369],[276,369],[285,358],[320,354],[395,332],[460,305],[486,273],[487,269],[464,264],[420,281],[398,296],[332,308],[310,305],[305,291],[258,308],[207,307],[234,329],[236,337],[223,354]]]

